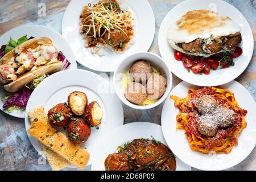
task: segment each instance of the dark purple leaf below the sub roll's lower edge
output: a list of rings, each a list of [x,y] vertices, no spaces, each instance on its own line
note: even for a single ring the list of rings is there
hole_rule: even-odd
[[[3,108],[7,108],[10,106],[18,106],[25,108],[27,106],[27,101],[30,98],[32,93],[32,90],[24,87],[23,89],[20,89],[18,92],[16,92],[13,96],[9,98],[8,101],[3,104]]]

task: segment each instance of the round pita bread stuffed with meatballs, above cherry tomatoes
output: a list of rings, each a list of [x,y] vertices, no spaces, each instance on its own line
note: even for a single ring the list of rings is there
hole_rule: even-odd
[[[168,43],[187,55],[209,57],[234,51],[241,43],[241,28],[228,16],[209,10],[194,10],[172,23]]]

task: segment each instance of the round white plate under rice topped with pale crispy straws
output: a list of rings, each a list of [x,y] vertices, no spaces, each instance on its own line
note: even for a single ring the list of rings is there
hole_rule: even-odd
[[[131,53],[148,51],[155,35],[155,17],[146,0],[119,0],[123,7],[127,7],[131,11],[135,19],[133,43],[121,54],[108,51],[99,56],[92,54],[90,48],[84,47],[85,40],[80,34],[79,25],[82,7],[96,2],[98,1],[72,0],[63,17],[62,35],[71,45],[79,63],[95,71],[113,72],[124,57]]]

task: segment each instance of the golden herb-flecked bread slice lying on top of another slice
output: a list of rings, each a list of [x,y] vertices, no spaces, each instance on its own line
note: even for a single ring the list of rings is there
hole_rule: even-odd
[[[88,151],[72,143],[63,133],[57,132],[48,121],[34,119],[28,133],[68,162],[81,169],[85,168],[90,157]]]

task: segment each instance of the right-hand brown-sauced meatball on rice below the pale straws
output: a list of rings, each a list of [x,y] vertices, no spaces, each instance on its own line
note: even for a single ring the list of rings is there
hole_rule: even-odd
[[[122,48],[123,42],[126,40],[126,35],[118,28],[114,28],[110,32],[110,35],[108,32],[105,33],[104,39],[107,44],[110,44],[114,48]]]

